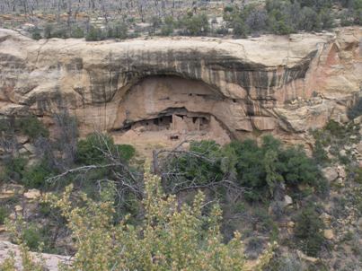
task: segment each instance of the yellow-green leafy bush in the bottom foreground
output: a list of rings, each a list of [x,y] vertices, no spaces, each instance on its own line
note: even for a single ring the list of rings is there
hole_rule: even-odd
[[[215,205],[204,214],[205,197],[199,193],[193,205],[179,205],[166,196],[161,179],[146,173],[143,201],[145,216],[137,226],[126,220],[113,224],[112,193],[106,190],[101,202],[86,196],[82,207],[73,207],[72,187],[62,197],[49,195],[61,209],[75,240],[72,267],[66,270],[244,270],[245,257],[240,234],[223,242],[221,210]],[[263,254],[255,270],[271,258]]]

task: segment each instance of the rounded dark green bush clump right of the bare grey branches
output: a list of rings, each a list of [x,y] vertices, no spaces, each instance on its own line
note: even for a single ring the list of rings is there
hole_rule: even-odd
[[[254,141],[234,142],[237,163],[235,169],[242,187],[251,188],[247,196],[252,200],[262,199],[284,182],[289,188],[298,184],[319,185],[322,174],[301,146],[283,148],[281,143],[265,136],[263,144]]]

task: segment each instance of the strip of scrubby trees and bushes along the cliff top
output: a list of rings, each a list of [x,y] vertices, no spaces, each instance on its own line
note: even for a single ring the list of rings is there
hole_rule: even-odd
[[[21,22],[33,39],[128,39],[137,36],[224,36],[322,31],[362,23],[361,0],[13,1],[0,4],[3,27]],[[87,4],[88,3],[88,4]],[[64,14],[65,13],[65,14]],[[9,17],[14,20],[9,21]],[[16,19],[15,19],[16,18]]]

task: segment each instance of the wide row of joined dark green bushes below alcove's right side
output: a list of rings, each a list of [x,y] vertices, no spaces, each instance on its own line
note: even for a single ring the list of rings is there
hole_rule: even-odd
[[[264,136],[261,145],[251,139],[224,147],[212,141],[193,142],[190,153],[176,156],[167,172],[165,184],[172,191],[226,178],[245,188],[244,196],[252,201],[268,200],[283,184],[296,191],[300,184],[319,192],[326,189],[321,171],[301,146],[284,147],[272,136]]]

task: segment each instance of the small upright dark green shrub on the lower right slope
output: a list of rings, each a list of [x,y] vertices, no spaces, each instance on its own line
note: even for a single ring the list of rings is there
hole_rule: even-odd
[[[295,236],[301,249],[308,255],[316,257],[324,243],[322,234],[324,224],[313,205],[306,206],[296,216]]]

